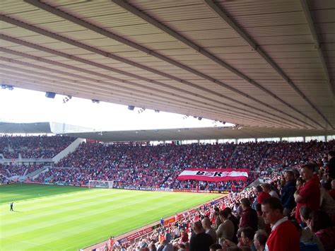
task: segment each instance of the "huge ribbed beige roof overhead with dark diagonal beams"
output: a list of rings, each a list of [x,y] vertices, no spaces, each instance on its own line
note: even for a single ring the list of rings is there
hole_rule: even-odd
[[[0,22],[5,84],[334,130],[333,0],[3,1]]]

